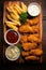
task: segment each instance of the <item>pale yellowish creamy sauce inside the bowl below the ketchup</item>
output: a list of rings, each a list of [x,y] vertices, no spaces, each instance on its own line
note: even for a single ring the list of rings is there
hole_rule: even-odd
[[[19,52],[17,48],[11,47],[7,50],[7,57],[9,58],[17,58],[19,56]]]

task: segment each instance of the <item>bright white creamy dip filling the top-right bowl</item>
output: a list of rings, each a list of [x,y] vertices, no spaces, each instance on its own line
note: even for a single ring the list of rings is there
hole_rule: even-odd
[[[35,4],[29,5],[28,11],[33,16],[36,16],[37,14],[40,14],[40,8]]]

